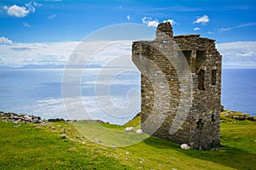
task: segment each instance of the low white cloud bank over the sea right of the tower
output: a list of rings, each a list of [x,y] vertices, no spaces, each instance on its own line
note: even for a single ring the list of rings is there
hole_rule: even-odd
[[[217,44],[224,67],[256,67],[256,42],[225,42]]]

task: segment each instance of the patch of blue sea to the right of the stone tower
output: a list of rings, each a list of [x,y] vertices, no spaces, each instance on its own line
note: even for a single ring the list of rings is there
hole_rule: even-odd
[[[222,79],[224,108],[256,116],[256,69],[224,69]]]

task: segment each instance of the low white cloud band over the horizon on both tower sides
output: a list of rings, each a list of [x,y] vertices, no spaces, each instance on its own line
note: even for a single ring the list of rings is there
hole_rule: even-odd
[[[79,44],[81,51],[73,51]],[[8,37],[0,37],[0,64],[9,66],[22,65],[65,65],[67,59],[73,59],[74,63],[85,63],[84,56],[88,47],[87,42],[48,42],[48,43],[20,43],[10,40]],[[98,47],[99,42],[96,43]],[[91,59],[91,64],[119,66],[120,63],[132,65],[131,42],[113,43],[107,48],[102,48]],[[90,43],[90,46],[93,44]],[[218,51],[223,55],[224,67],[256,67],[256,42],[225,42],[217,44]],[[121,58],[119,56],[125,56]],[[86,59],[85,59],[86,60]]]

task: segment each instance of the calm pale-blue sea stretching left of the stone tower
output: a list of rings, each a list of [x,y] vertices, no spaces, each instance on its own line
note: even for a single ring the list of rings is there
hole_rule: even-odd
[[[44,119],[55,117],[65,119],[78,117],[79,119],[78,115],[73,114],[78,113],[81,107],[85,107],[86,111],[90,112],[90,118],[118,124],[129,121],[139,112],[138,106],[136,111],[125,117],[109,115],[103,111],[104,107],[99,105],[95,91],[95,84],[102,89],[108,89],[109,85],[106,81],[109,75],[115,76],[109,88],[110,100],[117,107],[125,109],[129,104],[126,96],[131,89],[136,89],[138,94],[140,91],[140,75],[137,71],[124,72],[119,69],[109,69],[100,80],[96,79],[99,69],[89,69],[82,74],[82,77],[77,73],[78,71],[81,72],[81,70],[74,70],[68,77],[71,88],[66,91],[70,92],[70,95],[65,97],[66,103],[64,103],[61,93],[63,70],[0,70],[0,111],[26,113],[41,116]],[[76,77],[81,79],[79,86],[73,84]],[[81,93],[73,93],[75,88],[79,88]],[[102,94],[99,93],[97,97],[102,99],[100,96]],[[83,105],[79,105],[81,99]],[[140,105],[139,98],[136,102]],[[65,108],[68,109],[69,114]]]

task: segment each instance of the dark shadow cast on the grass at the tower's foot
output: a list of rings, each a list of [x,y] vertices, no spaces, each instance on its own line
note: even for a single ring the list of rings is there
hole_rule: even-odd
[[[182,150],[180,149],[179,144],[174,144],[165,139],[156,139],[153,137],[144,140],[144,143],[158,149],[176,150],[187,156],[205,161],[212,161],[225,167],[247,170],[253,170],[256,167],[256,155],[237,148],[222,146],[221,148],[224,149],[220,150]]]

